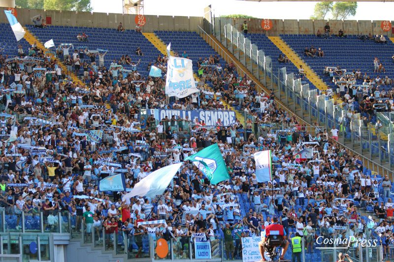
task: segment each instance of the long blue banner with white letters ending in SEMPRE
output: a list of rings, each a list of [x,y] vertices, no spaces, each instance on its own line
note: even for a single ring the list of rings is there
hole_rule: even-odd
[[[185,120],[186,116],[188,116],[188,120],[193,122],[203,120],[207,126],[215,126],[219,118],[224,126],[230,126],[235,123],[235,111],[147,109],[146,114],[153,115],[155,119],[158,120],[162,120],[165,116],[167,116],[168,119],[171,119],[172,116],[178,119],[178,116],[180,116],[181,119]]]

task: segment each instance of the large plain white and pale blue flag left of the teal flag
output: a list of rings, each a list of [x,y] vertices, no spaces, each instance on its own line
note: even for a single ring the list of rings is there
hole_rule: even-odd
[[[169,165],[142,178],[129,193],[122,197],[122,201],[135,196],[153,198],[162,195],[181,166],[182,163]]]

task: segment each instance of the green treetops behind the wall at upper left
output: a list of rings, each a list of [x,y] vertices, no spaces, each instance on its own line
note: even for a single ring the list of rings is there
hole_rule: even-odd
[[[91,0],[15,0],[15,5],[29,9],[92,11]]]

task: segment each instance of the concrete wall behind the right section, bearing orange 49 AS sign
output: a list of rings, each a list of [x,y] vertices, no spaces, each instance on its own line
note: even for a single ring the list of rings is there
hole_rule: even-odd
[[[240,30],[245,21],[244,18],[231,18],[231,24]],[[382,21],[355,21],[355,20],[278,20],[271,19],[272,29],[266,31],[262,28],[263,19],[247,19],[249,32],[263,33],[267,36],[279,36],[280,34],[316,34],[317,29],[324,31],[324,26],[329,22],[331,33],[338,33],[342,29],[345,34],[383,34],[393,36],[392,31],[385,32],[381,29]],[[393,24],[394,22],[392,22]]]

